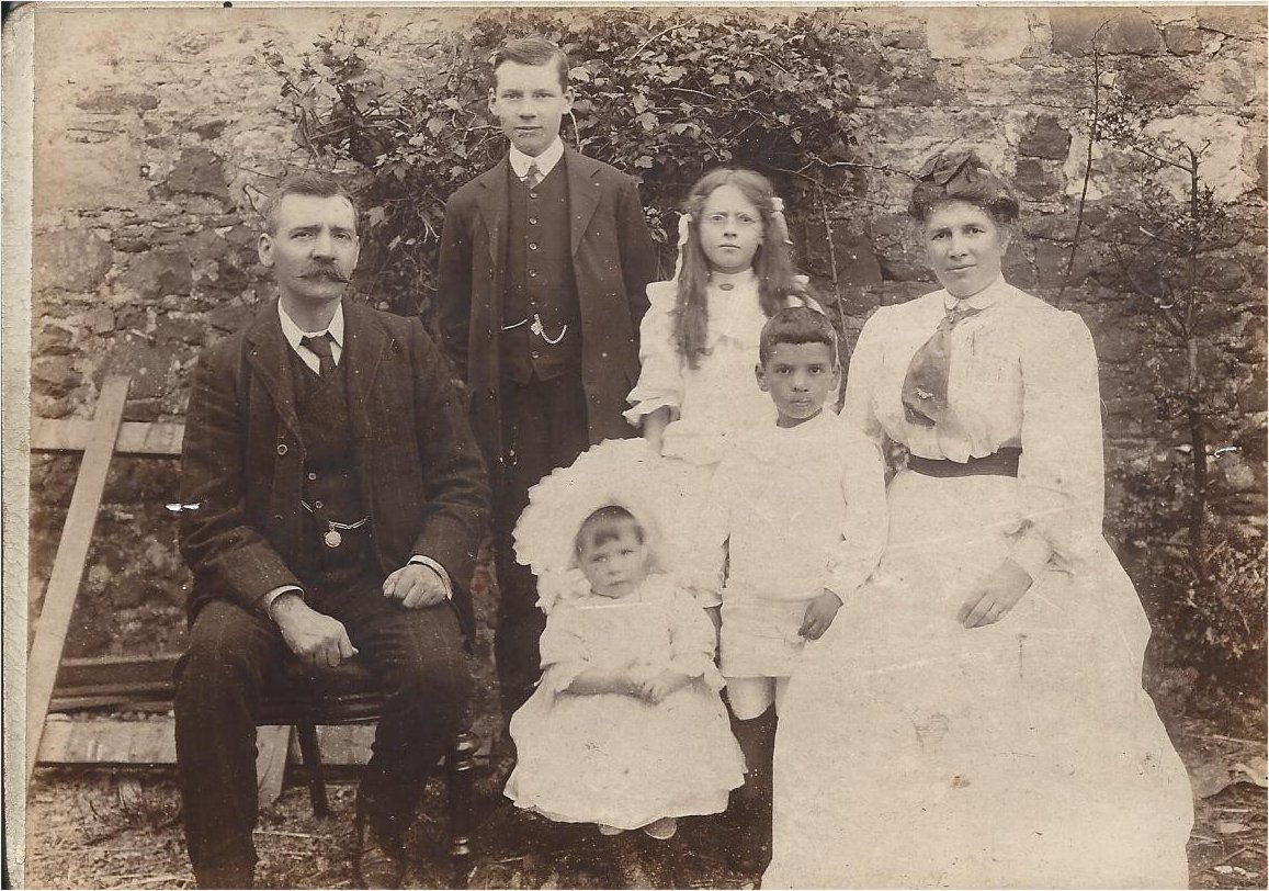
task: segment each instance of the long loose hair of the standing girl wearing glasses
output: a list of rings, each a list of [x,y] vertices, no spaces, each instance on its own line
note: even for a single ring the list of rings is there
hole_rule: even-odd
[[[674,338],[689,368],[700,364],[706,349],[706,331],[709,325],[709,306],[706,288],[709,284],[709,261],[700,246],[700,212],[706,201],[720,185],[733,185],[758,208],[763,220],[763,242],[754,254],[754,273],[758,275],[758,297],[763,314],[768,317],[784,305],[789,294],[802,293],[802,286],[793,278],[793,258],[789,254],[788,228],[783,214],[775,213],[775,189],[759,173],[736,168],[712,170],[697,180],[683,202],[684,213],[690,214],[688,240],[683,245],[683,269],[679,272],[679,293],[674,301]]]

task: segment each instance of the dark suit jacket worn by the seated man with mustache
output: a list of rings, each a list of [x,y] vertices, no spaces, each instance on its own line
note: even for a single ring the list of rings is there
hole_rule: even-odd
[[[418,319],[344,300],[349,421],[358,477],[385,578],[412,555],[435,560],[454,586],[463,630],[467,590],[489,514],[489,481],[433,341]],[[190,619],[212,598],[260,609],[298,585],[305,447],[294,363],[277,301],[208,348],[194,372],[181,456],[180,550],[194,572]],[[311,534],[311,533],[310,533]]]

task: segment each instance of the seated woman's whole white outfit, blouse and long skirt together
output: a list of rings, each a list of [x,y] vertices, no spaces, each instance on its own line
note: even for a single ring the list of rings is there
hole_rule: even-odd
[[[877,311],[843,416],[925,458],[1022,447],[1018,477],[891,482],[881,565],[784,701],[763,886],[1184,887],[1190,787],[1141,687],[1150,626],[1101,537],[1088,327],[997,280],[950,333],[949,423],[917,426],[904,378],[952,300]],[[1034,584],[962,627],[1006,557]]]

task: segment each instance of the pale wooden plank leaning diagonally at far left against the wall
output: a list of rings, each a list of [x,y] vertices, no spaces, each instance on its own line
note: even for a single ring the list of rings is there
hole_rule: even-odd
[[[105,476],[110,470],[114,440],[123,420],[123,406],[128,401],[128,385],[129,378],[126,376],[112,374],[105,378],[98,397],[93,434],[84,444],[84,461],[75,480],[75,492],[66,512],[62,537],[57,543],[53,571],[49,574],[44,604],[36,624],[36,641],[27,657],[28,788],[30,774],[36,769],[39,735],[44,730],[44,717],[48,715],[48,701],[53,694],[57,666],[62,660],[62,647],[66,645],[66,631],[84,578],[88,547],[93,541],[102,494],[105,491]]]

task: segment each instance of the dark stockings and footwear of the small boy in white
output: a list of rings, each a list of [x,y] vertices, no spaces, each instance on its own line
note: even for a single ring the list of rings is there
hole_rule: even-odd
[[[745,755],[745,784],[732,789],[733,835],[727,845],[732,868],[745,874],[760,874],[772,859],[772,758],[775,753],[775,708],[756,718],[741,721],[732,716],[732,734]]]

